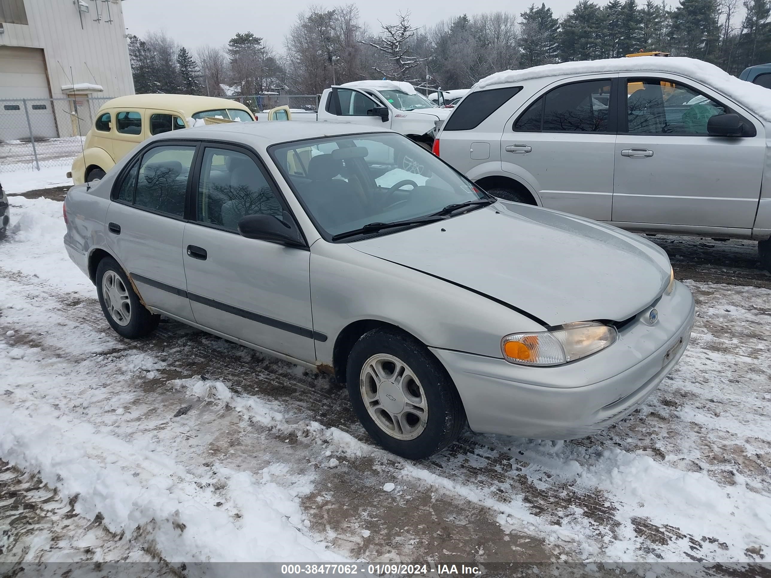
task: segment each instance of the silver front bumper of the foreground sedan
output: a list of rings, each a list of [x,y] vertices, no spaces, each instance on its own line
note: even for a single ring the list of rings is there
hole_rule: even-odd
[[[654,326],[638,314],[611,347],[555,367],[431,351],[453,378],[475,432],[575,439],[635,411],[682,357],[695,316],[691,292],[677,282],[672,295],[663,296],[655,307],[659,321]]]

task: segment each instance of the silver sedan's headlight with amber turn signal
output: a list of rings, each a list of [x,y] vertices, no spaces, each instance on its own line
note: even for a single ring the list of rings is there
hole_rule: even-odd
[[[568,323],[552,331],[513,333],[500,341],[503,358],[520,365],[561,365],[614,344],[615,328],[593,321]]]

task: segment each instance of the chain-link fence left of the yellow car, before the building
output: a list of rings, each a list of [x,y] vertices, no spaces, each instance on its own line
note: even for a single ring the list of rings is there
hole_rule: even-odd
[[[109,99],[0,99],[0,173],[71,164]]]

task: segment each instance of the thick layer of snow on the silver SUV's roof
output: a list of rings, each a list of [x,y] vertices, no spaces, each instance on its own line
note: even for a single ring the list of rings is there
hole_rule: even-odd
[[[661,58],[659,56],[638,56],[634,59],[581,60],[545,64],[522,70],[495,72],[477,82],[474,89],[487,89],[492,86],[524,82],[544,76],[571,76],[596,72],[672,72],[711,86],[729,98],[746,106],[763,119],[771,121],[771,92],[763,86],[739,80],[736,76],[704,62],[703,60],[682,57]]]

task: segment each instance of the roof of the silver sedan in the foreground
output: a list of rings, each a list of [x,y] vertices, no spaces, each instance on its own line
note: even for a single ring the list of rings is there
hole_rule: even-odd
[[[303,122],[300,120],[258,121],[254,123],[217,123],[210,126],[194,126],[190,129],[162,133],[157,139],[213,139],[244,143],[260,150],[271,144],[288,143],[294,140],[317,139],[324,136],[393,133],[394,131],[376,126],[365,126],[341,122]]]

